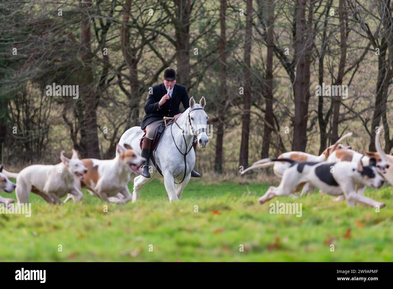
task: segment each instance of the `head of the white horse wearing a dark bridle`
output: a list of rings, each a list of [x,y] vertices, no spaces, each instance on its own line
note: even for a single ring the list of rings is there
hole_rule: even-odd
[[[206,147],[209,142],[206,124],[209,117],[203,109],[205,105],[206,100],[203,96],[200,99],[199,104],[195,103],[193,97],[190,98],[188,129],[191,134],[196,135],[198,146],[201,148]]]

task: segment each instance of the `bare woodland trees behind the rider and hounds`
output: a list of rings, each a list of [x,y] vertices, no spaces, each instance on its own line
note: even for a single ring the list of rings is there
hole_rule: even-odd
[[[375,151],[381,123],[390,153],[392,10],[388,0],[2,0],[1,162],[53,164],[72,147],[113,158],[168,66],[206,98],[213,138],[197,170],[319,154],[349,131],[354,149]],[[47,96],[52,83],[79,85],[79,98]],[[348,98],[317,96],[322,83],[348,85]]]

